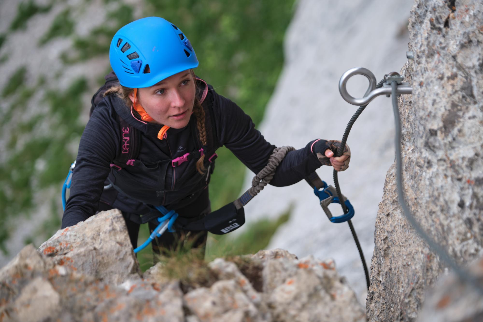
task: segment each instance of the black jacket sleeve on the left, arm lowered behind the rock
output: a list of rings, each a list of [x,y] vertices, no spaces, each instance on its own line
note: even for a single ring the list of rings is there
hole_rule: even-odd
[[[118,150],[119,126],[105,100],[90,117],[79,143],[71,191],[62,217],[62,229],[93,216],[98,208],[110,163]]]

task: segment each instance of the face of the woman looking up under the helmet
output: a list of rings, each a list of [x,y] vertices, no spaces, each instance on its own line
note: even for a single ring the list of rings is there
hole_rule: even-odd
[[[138,88],[137,103],[154,119],[152,123],[181,129],[188,125],[195,102],[195,80],[189,70],[174,74],[154,86]],[[134,102],[134,93],[129,95]]]

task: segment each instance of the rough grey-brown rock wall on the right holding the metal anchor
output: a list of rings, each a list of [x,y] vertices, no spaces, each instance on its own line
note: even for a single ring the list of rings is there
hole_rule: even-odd
[[[399,98],[403,181],[423,229],[459,264],[483,242],[483,3],[416,0],[410,59],[402,69],[412,96]],[[395,166],[379,204],[370,321],[413,321],[444,263],[405,220]]]

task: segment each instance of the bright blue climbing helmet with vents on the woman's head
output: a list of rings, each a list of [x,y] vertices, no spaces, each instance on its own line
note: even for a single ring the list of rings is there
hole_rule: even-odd
[[[122,86],[144,88],[190,68],[198,59],[185,34],[160,17],[146,17],[119,29],[109,60]]]

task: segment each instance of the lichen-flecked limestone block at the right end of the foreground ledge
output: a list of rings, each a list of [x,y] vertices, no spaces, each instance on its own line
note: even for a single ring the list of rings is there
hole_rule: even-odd
[[[313,256],[295,262],[270,260],[263,276],[274,321],[366,320],[354,291],[339,276],[332,260],[318,261]]]

